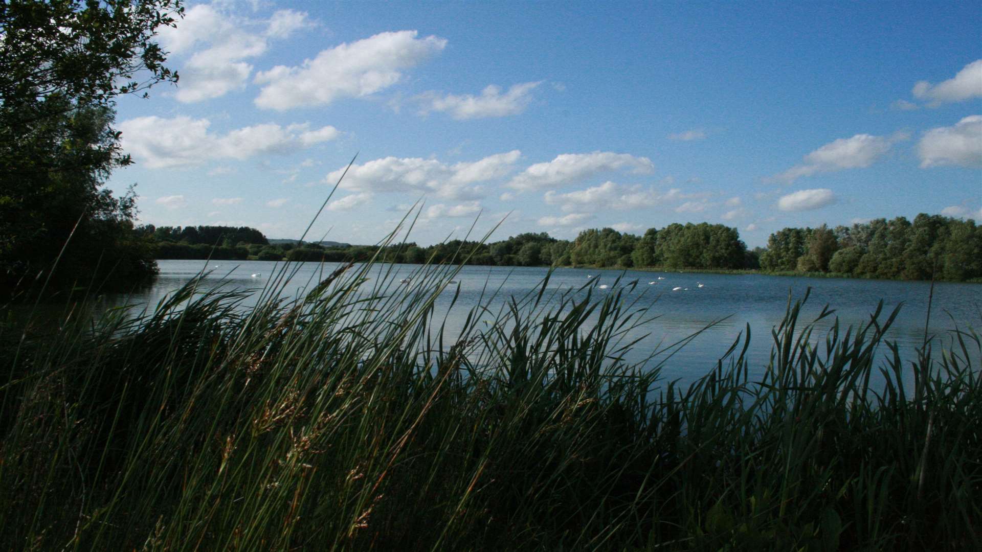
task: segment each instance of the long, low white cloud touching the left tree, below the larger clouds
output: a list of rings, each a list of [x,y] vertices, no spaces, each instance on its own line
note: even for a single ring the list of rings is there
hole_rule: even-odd
[[[238,159],[264,153],[290,153],[321,141],[337,138],[334,127],[309,128],[307,124],[281,127],[267,123],[211,133],[207,119],[178,116],[137,117],[120,123],[123,148],[153,169],[199,165],[215,159]]]

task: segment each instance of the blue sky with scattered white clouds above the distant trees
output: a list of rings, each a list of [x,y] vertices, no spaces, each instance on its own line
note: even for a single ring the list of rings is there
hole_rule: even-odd
[[[375,244],[982,221],[982,3],[188,3],[139,222]],[[356,158],[355,158],[356,156]],[[349,162],[354,164],[342,179]],[[332,190],[340,181],[337,190]],[[476,221],[476,222],[475,222]]]

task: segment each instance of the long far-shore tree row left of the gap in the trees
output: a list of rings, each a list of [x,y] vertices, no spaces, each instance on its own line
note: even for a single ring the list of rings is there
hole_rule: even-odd
[[[422,247],[415,243],[386,248],[319,244],[270,244],[253,228],[223,226],[136,228],[136,235],[155,244],[156,256],[169,258],[254,258],[257,260],[466,262],[501,266],[597,266],[738,269],[756,268],[756,255],[739,240],[736,228],[723,225],[672,224],[643,236],[612,228],[580,232],[575,240],[557,240],[544,232],[524,233],[481,244],[451,240]]]

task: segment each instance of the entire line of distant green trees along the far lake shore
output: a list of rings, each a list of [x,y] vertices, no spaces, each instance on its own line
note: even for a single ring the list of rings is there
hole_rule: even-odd
[[[247,227],[136,228],[154,244],[157,258],[290,261],[465,262],[488,266],[596,266],[764,272],[832,272],[860,278],[967,280],[982,277],[982,227],[939,215],[876,219],[851,227],[785,228],[767,248],[749,250],[736,228],[722,224],[670,224],[641,236],[613,228],[589,229],[572,241],[544,232],[481,244],[451,240],[423,247],[274,243]]]

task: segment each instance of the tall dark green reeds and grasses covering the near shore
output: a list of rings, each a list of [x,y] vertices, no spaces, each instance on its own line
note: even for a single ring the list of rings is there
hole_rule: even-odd
[[[901,359],[896,311],[796,302],[762,377],[747,327],[682,387],[684,343],[627,361],[630,284],[487,290],[451,333],[456,267],[375,269],[0,326],[0,549],[982,548],[970,330]]]

